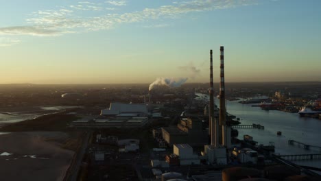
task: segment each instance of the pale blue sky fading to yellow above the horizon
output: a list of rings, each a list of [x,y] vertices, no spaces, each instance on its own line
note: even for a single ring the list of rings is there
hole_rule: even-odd
[[[10,0],[0,84],[321,81],[319,0]]]

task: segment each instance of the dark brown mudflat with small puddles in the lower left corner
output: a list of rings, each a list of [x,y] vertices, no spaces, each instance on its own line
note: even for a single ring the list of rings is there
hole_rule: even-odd
[[[0,180],[63,180],[75,152],[63,149],[64,132],[0,135]]]

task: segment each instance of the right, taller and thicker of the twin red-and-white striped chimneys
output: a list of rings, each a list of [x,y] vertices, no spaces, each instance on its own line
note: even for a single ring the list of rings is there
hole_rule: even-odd
[[[222,145],[226,145],[226,106],[225,106],[225,82],[224,82],[224,47],[220,48],[221,75],[219,83],[219,125],[222,129]]]

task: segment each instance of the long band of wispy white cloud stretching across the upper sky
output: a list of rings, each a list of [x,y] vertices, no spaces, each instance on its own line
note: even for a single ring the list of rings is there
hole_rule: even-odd
[[[87,32],[110,29],[123,23],[147,22],[156,19],[173,19],[191,12],[205,12],[224,8],[235,8],[241,5],[254,5],[258,0],[192,0],[178,1],[158,8],[145,8],[140,11],[111,14],[98,3],[80,1],[77,5],[59,10],[38,11],[26,21],[29,26],[0,27],[0,34],[27,34],[33,36],[58,36],[71,32]],[[126,1],[106,1],[110,5],[127,5]],[[82,16],[80,11],[105,10],[101,16]],[[167,24],[146,25],[144,27],[165,27]]]

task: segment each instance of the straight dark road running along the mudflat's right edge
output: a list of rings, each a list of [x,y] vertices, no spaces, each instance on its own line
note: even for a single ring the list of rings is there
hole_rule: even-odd
[[[76,181],[78,177],[78,172],[80,170],[80,166],[82,165],[82,158],[84,158],[84,154],[86,153],[86,148],[88,147],[89,138],[93,134],[91,131],[87,131],[86,137],[82,141],[82,147],[80,151],[76,155],[75,162],[71,162],[71,166],[69,168],[68,173],[66,174],[64,180]]]

